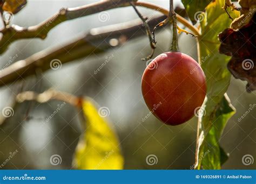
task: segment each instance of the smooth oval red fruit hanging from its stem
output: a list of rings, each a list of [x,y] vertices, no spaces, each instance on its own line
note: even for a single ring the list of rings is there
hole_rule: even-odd
[[[154,116],[165,124],[179,125],[191,119],[203,104],[205,74],[191,56],[166,52],[146,67],[142,94]]]

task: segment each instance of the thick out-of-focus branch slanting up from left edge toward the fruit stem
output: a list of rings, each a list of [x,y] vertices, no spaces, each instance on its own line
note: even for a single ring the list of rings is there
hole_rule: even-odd
[[[152,29],[154,25],[164,19],[165,16],[154,17],[147,24]],[[136,34],[134,34],[136,32]],[[17,61],[9,67],[0,70],[0,86],[4,86],[18,79],[35,74],[36,68],[42,72],[50,69],[52,60],[57,59],[62,63],[70,62],[92,53],[104,52],[125,43],[125,41],[145,35],[140,19],[131,22],[92,29],[85,36],[62,47],[45,49],[33,54],[29,58]],[[111,45],[110,40],[116,39],[118,45]],[[103,41],[105,40],[105,41]],[[67,54],[67,51],[69,54]]]

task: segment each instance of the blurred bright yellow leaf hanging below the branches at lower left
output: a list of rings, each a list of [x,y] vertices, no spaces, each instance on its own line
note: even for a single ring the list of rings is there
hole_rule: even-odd
[[[74,164],[77,169],[123,169],[119,141],[109,122],[99,116],[91,99],[85,98],[82,108],[86,130],[76,148]]]

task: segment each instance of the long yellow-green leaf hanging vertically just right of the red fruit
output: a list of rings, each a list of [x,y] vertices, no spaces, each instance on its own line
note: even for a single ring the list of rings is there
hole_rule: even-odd
[[[235,113],[227,95],[224,95],[231,79],[227,69],[230,57],[218,52],[218,34],[231,24],[231,19],[225,10],[221,9],[223,3],[216,0],[201,14],[204,18],[200,23],[202,34],[199,37],[199,47],[201,67],[206,75],[207,99],[203,106],[205,115],[199,119],[203,125],[204,140],[199,149],[198,169],[220,169],[227,160],[227,154],[220,147],[219,139],[228,119]],[[230,14],[233,18],[239,16],[238,11],[232,11]],[[208,154],[205,154],[206,152]]]

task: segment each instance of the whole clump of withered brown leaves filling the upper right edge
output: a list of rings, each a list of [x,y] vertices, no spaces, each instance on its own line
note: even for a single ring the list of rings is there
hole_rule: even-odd
[[[240,1],[241,16],[235,19],[231,28],[219,34],[220,53],[232,56],[228,69],[235,78],[246,80],[246,90],[256,90],[256,2]]]

